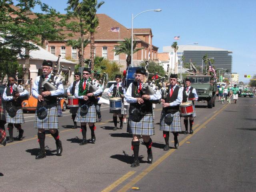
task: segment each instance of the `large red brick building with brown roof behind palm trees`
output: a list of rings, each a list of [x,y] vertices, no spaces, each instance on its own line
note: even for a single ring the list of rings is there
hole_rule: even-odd
[[[131,29],[126,28],[116,20],[110,18],[106,14],[97,14],[99,19],[99,25],[95,32],[95,56],[104,57],[110,61],[116,61],[121,68],[126,68],[126,55],[120,54],[115,56],[115,52],[119,41],[124,41],[124,38],[131,37]],[[112,32],[111,27],[119,27],[119,32]],[[66,32],[68,33],[68,32]],[[75,34],[68,39],[77,40],[79,34]],[[157,60],[158,47],[152,45],[152,31],[150,28],[134,29],[134,38],[136,39],[137,48],[144,48],[135,54],[133,54],[134,66],[139,65],[144,60]],[[84,35],[85,39],[90,40],[90,33]],[[46,44],[46,50],[52,54],[58,56],[62,55],[62,58],[68,60],[72,59],[78,63],[78,50],[66,45],[66,40],[62,42],[48,41]],[[84,48],[84,58],[90,58],[90,44]]]

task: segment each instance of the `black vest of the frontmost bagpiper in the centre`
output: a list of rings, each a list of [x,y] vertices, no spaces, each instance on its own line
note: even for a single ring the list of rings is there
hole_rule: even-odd
[[[132,97],[134,98],[138,98],[141,97],[142,94],[142,90],[138,93],[138,83],[137,82],[133,82],[132,83]],[[130,110],[133,110],[134,108],[137,108],[139,110],[141,110],[143,113],[145,114],[149,114],[152,113],[152,103],[150,102],[150,100],[145,100],[144,99],[144,103],[143,104],[138,104],[138,103],[130,103]]]

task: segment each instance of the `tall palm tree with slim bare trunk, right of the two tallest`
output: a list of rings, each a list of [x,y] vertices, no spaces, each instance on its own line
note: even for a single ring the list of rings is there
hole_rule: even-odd
[[[82,15],[84,15],[86,30],[90,32],[90,59],[92,60],[92,70],[94,70],[94,33],[96,27],[99,25],[96,10],[100,8],[102,4],[104,4],[104,1],[98,4],[97,0],[83,0],[81,9]]]

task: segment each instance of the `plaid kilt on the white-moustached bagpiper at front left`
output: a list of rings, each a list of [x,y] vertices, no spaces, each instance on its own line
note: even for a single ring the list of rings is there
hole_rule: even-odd
[[[44,107],[47,110],[46,118],[40,120],[37,116],[37,110],[40,108],[40,104],[37,105],[36,108],[36,120],[35,120],[35,128],[36,129],[58,129],[58,109],[56,104],[45,105]]]

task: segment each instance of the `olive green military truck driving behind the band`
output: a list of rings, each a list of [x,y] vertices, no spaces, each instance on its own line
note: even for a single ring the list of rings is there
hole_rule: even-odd
[[[198,101],[207,101],[208,108],[215,107],[215,96],[217,91],[216,79],[211,75],[189,75],[191,86],[196,89]]]

